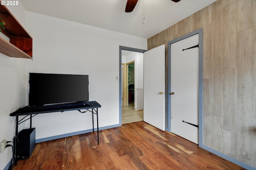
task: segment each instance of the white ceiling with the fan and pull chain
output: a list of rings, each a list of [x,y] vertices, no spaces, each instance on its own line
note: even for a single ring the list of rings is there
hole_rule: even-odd
[[[124,12],[127,0],[20,0],[26,11],[148,39],[216,0],[142,0]]]

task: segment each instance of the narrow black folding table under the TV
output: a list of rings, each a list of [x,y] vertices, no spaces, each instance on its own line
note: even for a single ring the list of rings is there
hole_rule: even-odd
[[[71,104],[57,104],[57,105],[49,105],[49,106],[38,106],[38,107],[22,107],[13,113],[10,116],[16,116],[16,129],[15,135],[18,137],[18,125],[23,123],[24,121],[30,119],[30,128],[32,128],[32,117],[41,114],[41,113],[51,113],[58,111],[70,111],[70,110],[78,110],[86,109],[92,113],[92,129],[94,132],[94,118],[93,114],[97,115],[97,135],[98,135],[98,145],[99,145],[99,125],[98,125],[98,108],[101,107],[96,101],[92,102],[82,102],[82,103],[71,103]],[[92,109],[92,110],[89,110]],[[80,111],[81,113],[85,113],[86,111]],[[26,115],[19,121],[19,116]],[[30,117],[28,117],[30,115]],[[16,142],[15,138],[15,142]],[[15,146],[14,146],[15,147]],[[16,152],[16,147],[15,147]]]

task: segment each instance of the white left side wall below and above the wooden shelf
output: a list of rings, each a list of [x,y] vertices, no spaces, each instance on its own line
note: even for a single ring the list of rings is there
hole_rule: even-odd
[[[7,7],[25,27],[26,12],[23,6],[19,3],[18,6]],[[2,33],[0,33],[0,36],[4,37]],[[0,53],[0,141],[3,139],[13,141],[15,117],[10,117],[10,113],[16,111],[19,107],[25,106],[26,60],[8,57]],[[24,125],[20,125],[20,128],[24,129]],[[11,147],[0,153],[0,170],[4,169],[11,158]]]

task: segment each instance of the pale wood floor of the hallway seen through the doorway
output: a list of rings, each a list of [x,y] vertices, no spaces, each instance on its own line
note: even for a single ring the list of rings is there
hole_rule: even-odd
[[[136,111],[131,107],[122,106],[122,125],[143,120],[143,110]]]

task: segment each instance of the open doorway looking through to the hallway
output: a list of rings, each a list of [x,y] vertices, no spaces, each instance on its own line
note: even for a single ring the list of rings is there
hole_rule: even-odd
[[[120,125],[143,120],[144,52],[120,46]]]

